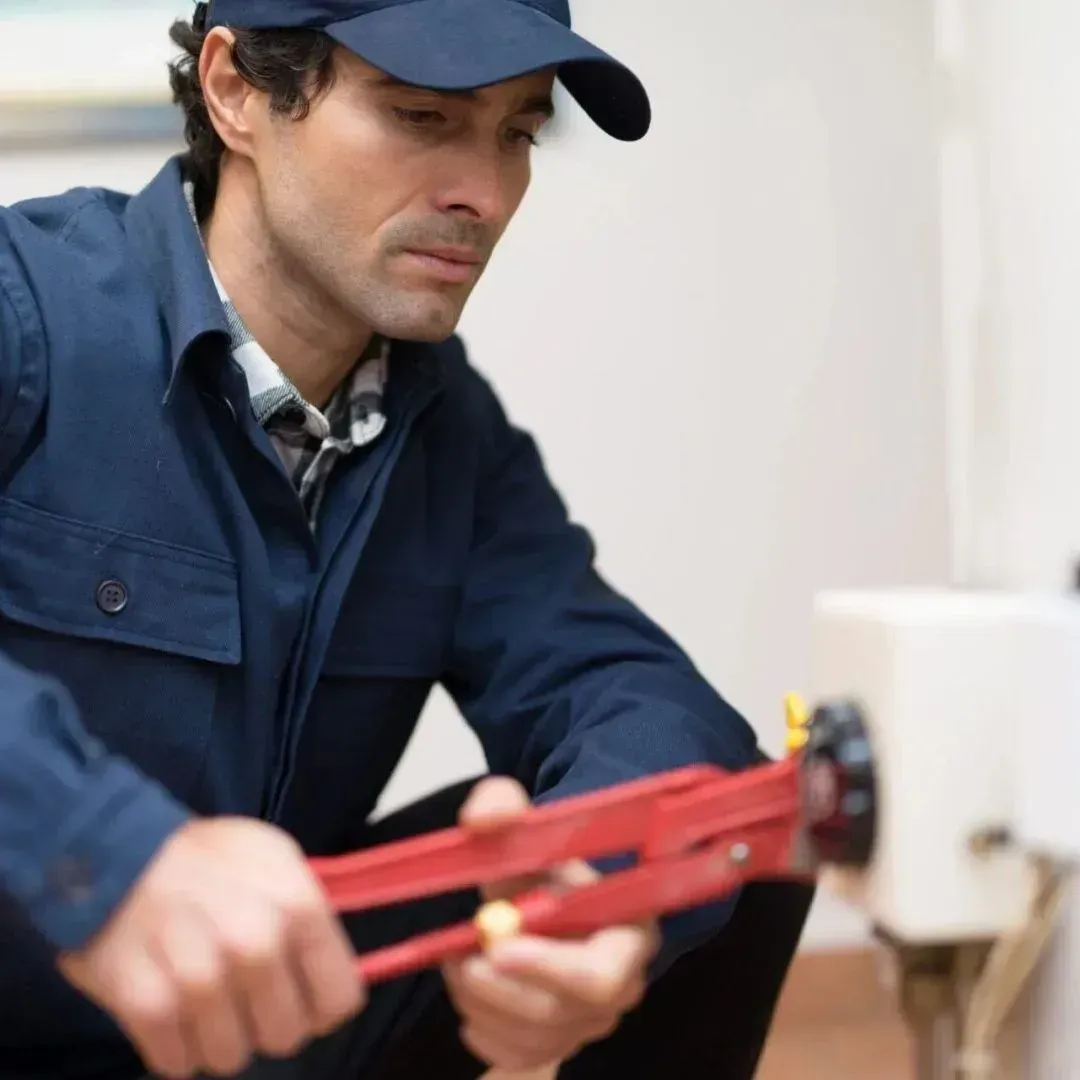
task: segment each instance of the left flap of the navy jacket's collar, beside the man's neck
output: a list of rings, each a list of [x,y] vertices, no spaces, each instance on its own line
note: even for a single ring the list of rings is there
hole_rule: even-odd
[[[168,330],[170,393],[192,347],[207,336],[229,341],[225,309],[214,286],[202,238],[184,198],[178,157],[131,199],[125,227],[150,276]],[[166,395],[167,396],[167,395]]]

